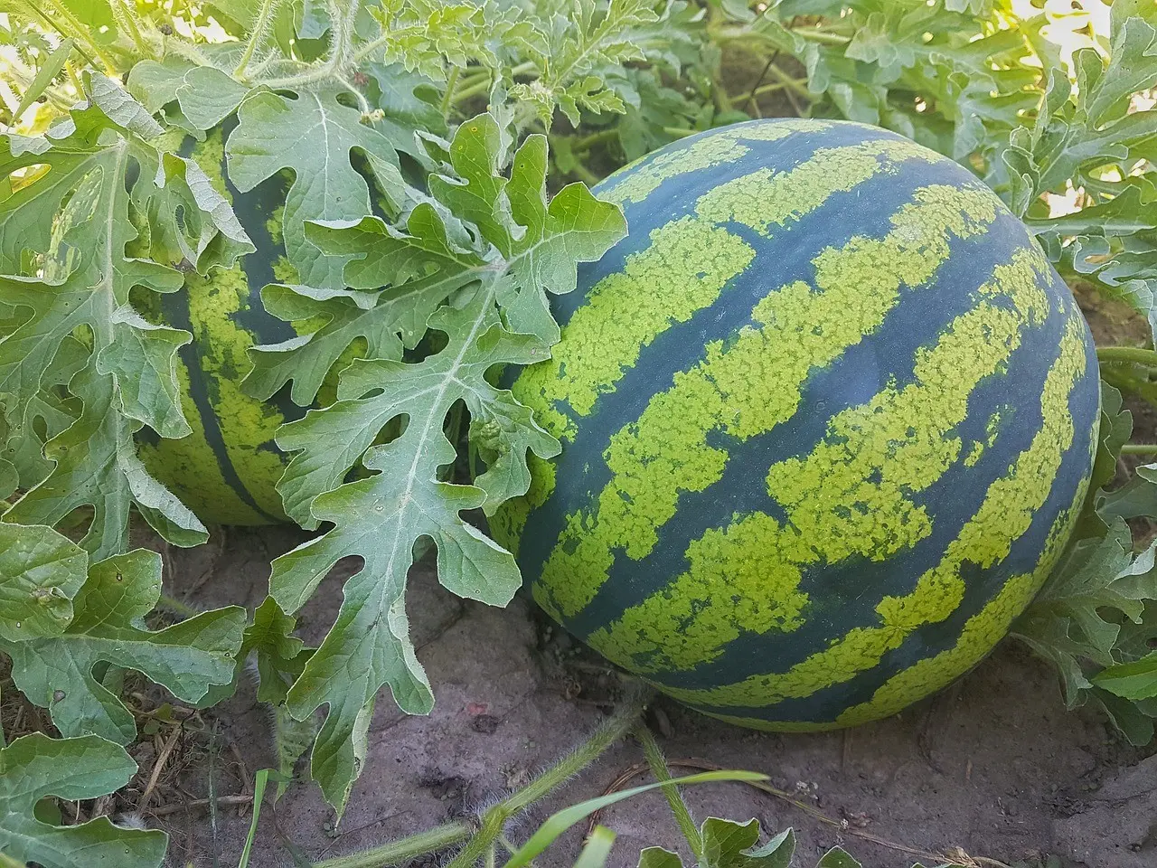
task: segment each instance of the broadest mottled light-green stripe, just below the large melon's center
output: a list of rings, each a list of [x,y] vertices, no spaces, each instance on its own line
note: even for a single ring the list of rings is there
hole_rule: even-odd
[[[883,560],[927,536],[928,516],[908,495],[959,458],[953,429],[972,391],[1008,362],[1022,329],[1048,315],[1038,282],[1047,269],[1036,249],[996,266],[973,294],[981,301],[916,353],[911,384],[839,413],[810,455],[769,469],[768,493],[787,512],[787,527],[757,513],[707,531],[687,549],[691,569],[590,645],[635,672],[693,669],[742,633],[802,626],[808,597],[797,586],[808,565],[854,554]],[[994,306],[995,297],[1011,304]]]

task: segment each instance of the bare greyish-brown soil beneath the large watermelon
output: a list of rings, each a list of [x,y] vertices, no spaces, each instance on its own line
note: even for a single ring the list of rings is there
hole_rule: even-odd
[[[172,552],[171,590],[180,595],[204,581],[197,594],[202,605],[252,608],[265,595],[268,559],[300,538],[286,528],[231,530],[207,575],[208,547]],[[307,641],[319,641],[337,612],[340,567],[303,612]],[[433,714],[405,716],[382,696],[366,770],[338,831],[318,789],[295,785],[275,811],[263,812],[251,865],[292,865],[282,837],[316,860],[460,816],[578,744],[606,713],[600,703],[613,694],[613,678],[551,630],[529,601],[516,598],[507,610],[462,603],[437,586],[423,564],[412,571],[407,603],[418,655],[435,689]],[[1143,755],[1122,745],[1095,715],[1066,712],[1051,672],[1011,643],[945,693],[897,718],[842,733],[757,734],[665,700],[658,708],[662,715],[651,721],[662,721],[659,741],[672,760],[695,758],[765,772],[776,787],[845,822],[842,830],[826,825],[737,784],[687,792],[700,819],[757,817],[765,830],[793,826],[799,834],[797,865],[805,868],[837,844],[871,868],[907,868],[918,860],[863,834],[914,851],[951,853],[959,847],[1004,862],[1052,854],[1066,868],[1157,866],[1157,757],[1141,760]],[[246,685],[206,713],[206,720],[215,721],[222,744],[237,749],[236,755],[233,746],[222,750],[215,760],[216,793],[241,793],[238,758],[246,777],[273,764],[267,711]],[[153,744],[135,750],[148,770]],[[515,837],[529,834],[531,822],[550,811],[602,793],[641,760],[638,744],[621,743],[545,803],[525,827],[514,830]],[[194,756],[172,785],[186,796],[205,796],[206,773],[207,757]],[[249,817],[230,806],[220,811],[215,831],[204,809],[152,822],[163,822],[172,834],[172,866],[208,868],[236,865]],[[625,802],[602,822],[619,834],[613,866],[635,866],[647,845],[679,845],[659,794]],[[583,831],[572,833],[540,865],[572,865]]]

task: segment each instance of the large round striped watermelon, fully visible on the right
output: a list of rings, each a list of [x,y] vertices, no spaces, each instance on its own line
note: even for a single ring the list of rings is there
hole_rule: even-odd
[[[535,598],[708,714],[892,714],[1056,561],[1098,420],[1088,326],[982,183],[861,124],[760,120],[612,175],[629,235],[517,397],[563,444],[493,520]]]

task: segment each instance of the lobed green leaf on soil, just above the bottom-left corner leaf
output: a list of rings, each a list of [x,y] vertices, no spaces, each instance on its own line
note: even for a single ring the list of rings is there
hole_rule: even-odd
[[[28,569],[36,567],[35,556],[25,557]],[[68,562],[74,573],[83,566],[82,559]],[[68,586],[73,583],[75,575]],[[233,678],[244,610],[216,609],[154,632],[141,619],[160,595],[161,556],[138,549],[88,569],[62,632],[23,641],[0,638],[16,686],[50,711],[62,735],[94,733],[119,744],[137,737],[132,714],[101,683],[98,664],[135,669],[189,703]]]

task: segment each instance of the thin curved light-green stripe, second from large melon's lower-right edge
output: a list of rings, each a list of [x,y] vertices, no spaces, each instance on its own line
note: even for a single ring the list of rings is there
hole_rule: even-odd
[[[987,569],[998,564],[1047,500],[1064,454],[1073,444],[1069,396],[1084,374],[1085,363],[1084,325],[1079,315],[1074,315],[1067,322],[1060,353],[1045,381],[1042,424],[1032,443],[1019,454],[1009,472],[989,486],[980,509],[961,528],[941,562],[920,576],[914,590],[907,596],[880,601],[876,606],[877,626],[849,631],[827,649],[786,672],[754,675],[703,690],[664,686],[663,691],[691,705],[774,706],[872,669],[916,628],[948,618],[964,598],[961,566],[968,562]]]

